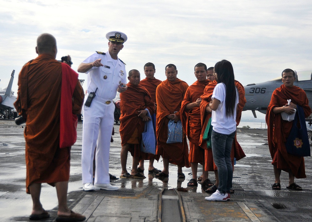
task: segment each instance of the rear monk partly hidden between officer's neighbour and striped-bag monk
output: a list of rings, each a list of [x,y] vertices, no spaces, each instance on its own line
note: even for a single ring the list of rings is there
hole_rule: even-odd
[[[140,81],[140,85],[144,86],[149,91],[149,93],[151,94],[152,100],[156,105],[156,88],[162,81],[159,79],[156,79],[154,77],[155,72],[156,72],[155,65],[152,62],[146,63],[144,65],[144,74],[145,74],[146,78],[142,79]],[[155,111],[155,113],[156,113],[156,111]],[[152,118],[154,118],[154,120],[155,120],[156,114],[154,114],[154,116],[152,116]],[[153,125],[155,128],[156,127],[155,121],[153,121]],[[155,130],[156,130],[156,128],[155,128]],[[155,134],[155,136],[156,136],[156,134]],[[148,169],[149,173],[159,173],[161,170],[156,169],[154,167],[154,160],[157,160],[157,162],[158,162],[159,158],[160,158],[160,155],[154,155],[151,153],[145,155],[139,163],[138,172],[144,172],[144,160],[149,160],[149,169]]]

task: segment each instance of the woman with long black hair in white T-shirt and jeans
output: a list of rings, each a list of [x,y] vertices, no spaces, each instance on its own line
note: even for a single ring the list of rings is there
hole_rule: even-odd
[[[214,66],[217,85],[209,103],[212,109],[212,154],[218,168],[219,185],[216,192],[207,201],[230,200],[233,167],[231,162],[232,143],[236,132],[236,107],[238,92],[234,82],[234,71],[231,62],[222,60]]]

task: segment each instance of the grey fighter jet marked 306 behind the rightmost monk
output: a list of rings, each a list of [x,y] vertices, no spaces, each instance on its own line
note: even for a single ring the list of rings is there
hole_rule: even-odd
[[[312,109],[312,69],[300,69],[295,71],[296,80],[294,82],[295,86],[300,87],[305,90],[307,97],[310,101],[309,105]],[[246,104],[243,111],[251,110],[255,118],[256,110],[261,113],[266,114],[266,109],[271,101],[271,96],[273,91],[282,85],[282,75],[272,79],[270,81],[261,83],[252,83],[244,86]]]

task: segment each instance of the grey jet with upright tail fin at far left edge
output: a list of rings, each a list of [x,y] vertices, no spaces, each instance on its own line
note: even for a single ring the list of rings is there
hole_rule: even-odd
[[[4,88],[0,91],[0,114],[4,115],[4,117],[6,115],[11,115],[11,109],[14,108],[14,102],[17,99],[17,97],[14,96],[11,91],[14,79],[14,72],[15,70],[13,70],[11,73],[11,79],[9,81],[9,84],[7,85],[7,88]]]

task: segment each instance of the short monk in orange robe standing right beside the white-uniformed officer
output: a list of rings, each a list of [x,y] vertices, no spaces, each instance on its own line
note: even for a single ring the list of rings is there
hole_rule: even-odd
[[[145,87],[139,85],[140,72],[136,69],[129,71],[128,89],[120,93],[120,138],[121,138],[121,178],[145,178],[137,171],[139,160],[142,158],[140,145],[145,122],[151,120],[148,111],[154,114],[155,104]],[[132,155],[132,170],[126,168],[128,151]],[[143,153],[143,152],[142,152]]]

